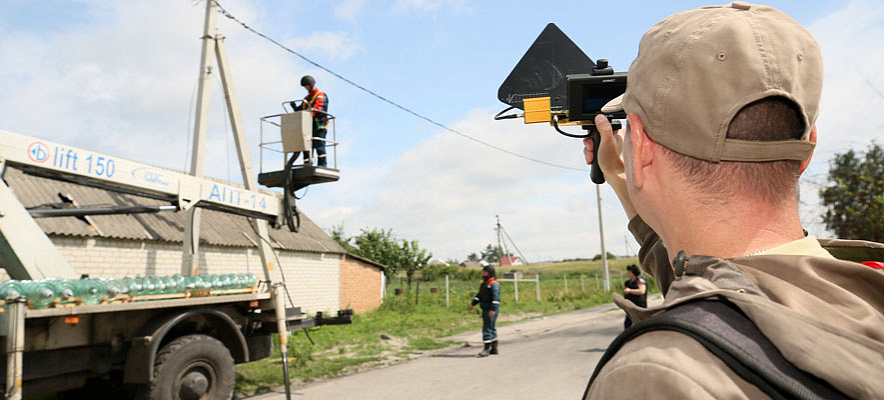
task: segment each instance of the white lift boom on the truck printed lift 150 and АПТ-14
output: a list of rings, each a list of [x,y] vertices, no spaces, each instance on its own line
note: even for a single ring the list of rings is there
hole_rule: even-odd
[[[0,173],[6,166],[169,201],[170,206],[141,212],[185,211],[192,207],[205,207],[276,224],[282,210],[282,199],[272,193],[247,190],[210,178],[0,130]],[[67,215],[75,215],[78,209],[65,211],[68,211]],[[107,207],[80,211],[93,215],[115,212]],[[124,208],[118,211],[132,212]],[[8,266],[12,278],[77,277],[33,220],[34,217],[49,217],[52,214],[46,210],[25,209],[6,183],[0,181],[0,232],[6,233],[0,235],[0,261]],[[54,214],[64,215],[57,211]]]

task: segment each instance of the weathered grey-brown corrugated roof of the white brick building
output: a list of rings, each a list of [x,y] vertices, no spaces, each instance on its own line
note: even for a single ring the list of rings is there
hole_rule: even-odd
[[[44,178],[8,167],[4,180],[25,207],[61,202],[61,196],[79,206],[167,205],[167,202],[119,193],[76,183]],[[154,214],[95,215],[91,224],[77,217],[36,218],[43,231],[52,235],[94,236],[132,240],[158,240],[181,243],[184,236],[184,212]],[[254,247],[243,236],[258,241],[248,218],[216,210],[203,209],[200,243],[218,246]],[[343,254],[344,249],[319,226],[301,213],[300,232],[288,228],[270,229],[270,241],[287,250]]]

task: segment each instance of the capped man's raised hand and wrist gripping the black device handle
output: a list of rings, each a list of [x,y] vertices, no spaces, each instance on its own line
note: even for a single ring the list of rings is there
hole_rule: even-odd
[[[595,126],[601,136],[598,154],[599,167],[605,174],[605,180],[620,198],[620,204],[623,205],[626,216],[632,219],[636,212],[632,200],[629,198],[629,191],[626,189],[626,166],[623,164],[624,133],[621,131],[615,133],[608,118],[602,114],[595,116]],[[591,137],[583,139],[583,157],[586,159],[586,165],[592,164],[594,154]]]

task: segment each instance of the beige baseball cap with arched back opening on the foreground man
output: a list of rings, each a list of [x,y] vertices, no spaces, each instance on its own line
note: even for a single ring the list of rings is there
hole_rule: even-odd
[[[822,87],[822,55],[807,30],[775,8],[733,2],[651,27],[629,67],[626,92],[602,112],[635,113],[655,142],[706,161],[805,160]],[[771,96],[798,106],[800,139],[725,138],[738,111]]]

